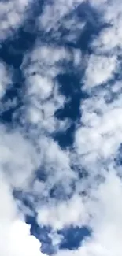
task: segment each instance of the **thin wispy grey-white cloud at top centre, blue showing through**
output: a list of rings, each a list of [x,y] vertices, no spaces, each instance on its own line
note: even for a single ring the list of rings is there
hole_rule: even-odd
[[[82,8],[80,6],[83,2],[86,0],[54,0],[46,3],[37,20],[38,29],[44,33],[51,32],[50,39],[76,43],[86,24],[86,20],[80,19],[76,14],[76,9]]]

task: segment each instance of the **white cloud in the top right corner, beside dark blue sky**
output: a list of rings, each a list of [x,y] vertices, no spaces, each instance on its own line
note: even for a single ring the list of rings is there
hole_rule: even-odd
[[[99,36],[94,38],[91,46],[95,52],[99,53],[109,53],[118,54],[121,50],[122,33],[121,33],[121,20],[122,3],[120,0],[114,1],[98,1],[98,6],[96,6],[97,1],[91,1],[91,5],[102,10],[102,22],[108,24],[106,28],[102,29]]]

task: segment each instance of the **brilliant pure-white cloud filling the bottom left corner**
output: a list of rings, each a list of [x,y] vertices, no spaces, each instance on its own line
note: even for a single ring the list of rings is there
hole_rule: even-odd
[[[41,244],[34,236],[30,236],[30,227],[19,213],[2,169],[0,169],[0,254],[3,256],[41,256]]]

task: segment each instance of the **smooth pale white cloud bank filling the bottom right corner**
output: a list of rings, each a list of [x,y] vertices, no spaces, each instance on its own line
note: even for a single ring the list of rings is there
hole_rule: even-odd
[[[120,255],[121,254],[121,180],[113,171],[107,174],[104,184],[91,192],[89,206],[91,213],[91,238],[83,241],[78,250],[59,251],[57,255]],[[117,198],[117,199],[116,199]]]

